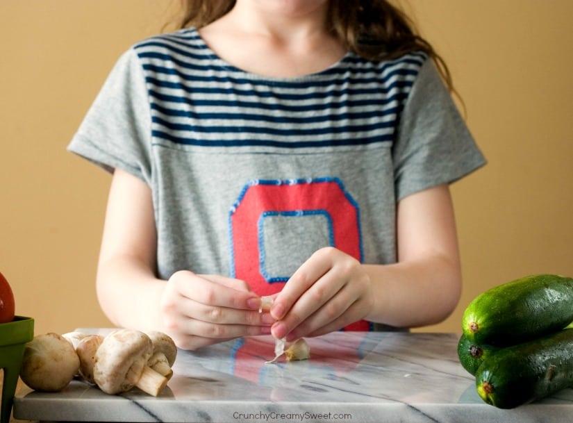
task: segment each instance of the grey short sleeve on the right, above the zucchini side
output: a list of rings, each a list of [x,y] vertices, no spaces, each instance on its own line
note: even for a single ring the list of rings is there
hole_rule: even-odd
[[[426,60],[402,110],[392,147],[396,198],[452,183],[485,164],[433,60]]]

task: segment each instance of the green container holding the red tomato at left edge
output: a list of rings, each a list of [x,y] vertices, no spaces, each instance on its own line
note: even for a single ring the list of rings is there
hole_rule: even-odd
[[[31,317],[16,316],[12,322],[0,324],[0,369],[4,371],[0,423],[10,421],[24,346],[33,338],[34,320]]]

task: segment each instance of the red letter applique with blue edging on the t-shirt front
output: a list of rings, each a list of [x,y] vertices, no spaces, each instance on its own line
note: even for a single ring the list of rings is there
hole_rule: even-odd
[[[229,224],[233,277],[259,295],[278,292],[320,247],[362,261],[358,204],[338,179],[253,181],[233,206]],[[299,258],[294,268],[293,257]]]

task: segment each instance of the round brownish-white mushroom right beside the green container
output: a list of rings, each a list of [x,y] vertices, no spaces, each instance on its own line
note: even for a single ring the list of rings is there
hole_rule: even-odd
[[[78,373],[80,360],[72,344],[57,333],[37,335],[24,347],[20,377],[30,388],[63,390]]]

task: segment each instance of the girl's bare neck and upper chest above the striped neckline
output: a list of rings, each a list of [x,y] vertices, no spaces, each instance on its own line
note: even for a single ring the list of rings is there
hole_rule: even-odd
[[[340,60],[346,49],[326,31],[326,0],[237,0],[199,33],[219,57],[265,76],[299,76]]]

